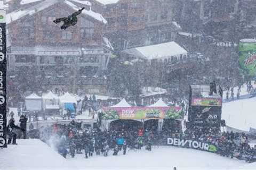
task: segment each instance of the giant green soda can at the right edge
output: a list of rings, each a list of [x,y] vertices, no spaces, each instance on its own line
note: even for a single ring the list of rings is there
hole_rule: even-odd
[[[239,65],[246,75],[256,77],[256,39],[240,40]]]

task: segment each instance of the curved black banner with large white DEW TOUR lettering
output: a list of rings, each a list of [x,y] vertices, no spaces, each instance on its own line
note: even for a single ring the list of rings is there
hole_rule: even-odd
[[[199,150],[205,150],[209,152],[217,152],[217,149],[218,149],[216,146],[211,145],[210,143],[205,143],[205,142],[196,141],[196,140],[189,140],[189,139],[179,139],[179,138],[167,138],[167,145],[199,149]]]

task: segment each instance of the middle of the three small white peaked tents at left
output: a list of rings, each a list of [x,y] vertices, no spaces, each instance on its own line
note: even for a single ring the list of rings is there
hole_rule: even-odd
[[[47,94],[43,94],[43,109],[59,109],[59,97],[49,91]]]

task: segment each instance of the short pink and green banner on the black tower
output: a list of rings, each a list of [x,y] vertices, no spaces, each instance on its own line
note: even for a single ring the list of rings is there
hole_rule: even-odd
[[[221,98],[192,98],[192,106],[222,106]]]

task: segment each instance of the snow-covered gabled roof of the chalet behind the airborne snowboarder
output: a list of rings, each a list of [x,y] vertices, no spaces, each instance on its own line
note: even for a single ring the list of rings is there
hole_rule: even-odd
[[[64,3],[69,5],[75,11],[78,11],[79,8],[82,7],[83,5],[78,7],[77,5],[71,3],[70,1],[77,2],[77,3],[83,4],[83,5],[85,4],[85,5],[91,6],[91,3],[87,2],[87,1],[81,1],[81,0],[69,0],[69,1],[66,0],[66,1],[64,1]],[[22,18],[23,16],[34,15],[35,13],[40,12],[40,11],[44,10],[45,8],[50,7],[50,6],[54,5],[55,3],[59,3],[59,2],[62,2],[62,1],[59,1],[59,0],[45,0],[45,1],[42,1],[42,2],[36,4],[32,7],[27,8],[26,10],[22,9],[22,10],[13,11],[11,13],[6,14],[6,23],[9,24],[12,21],[16,21],[16,20]],[[25,3],[26,3],[26,1],[25,1]],[[85,14],[85,15],[91,16],[95,20],[98,20],[98,21],[103,22],[105,24],[107,23],[107,21],[105,20],[105,18],[103,18],[103,16],[101,14],[93,12],[92,10],[89,10],[89,11],[88,10],[83,10],[82,13]]]

